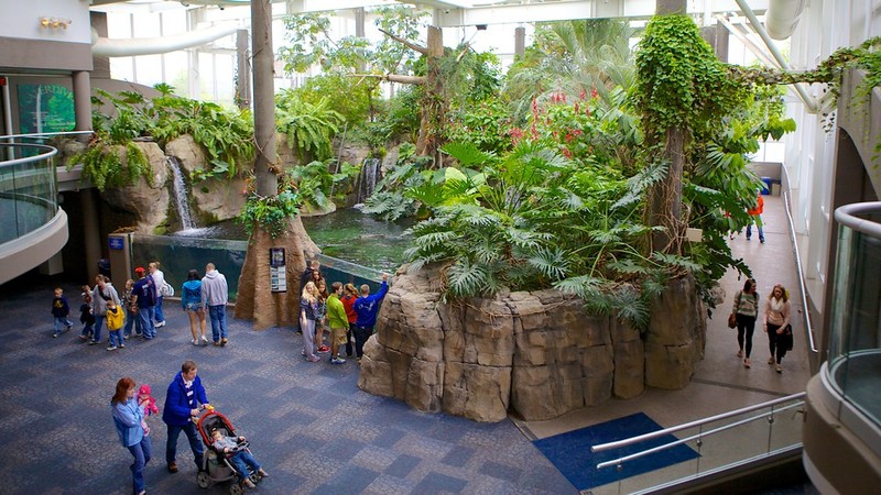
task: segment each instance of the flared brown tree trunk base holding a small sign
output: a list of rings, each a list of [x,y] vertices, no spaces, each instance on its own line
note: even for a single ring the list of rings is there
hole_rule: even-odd
[[[271,248],[284,249],[287,286],[284,293],[273,293],[270,285]],[[255,330],[296,323],[300,315],[300,276],[306,270],[306,258],[319,252],[303,228],[300,216],[291,219],[284,234],[276,239],[255,226],[239,277],[235,317],[253,320]]]

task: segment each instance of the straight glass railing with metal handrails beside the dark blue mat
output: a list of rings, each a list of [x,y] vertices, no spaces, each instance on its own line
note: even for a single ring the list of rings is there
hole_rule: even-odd
[[[652,492],[660,486],[672,487],[781,453],[801,451],[804,397],[804,393],[795,394],[594,446],[598,459],[605,460],[585,469],[594,470],[598,476],[612,470],[614,481],[591,488],[590,493]]]

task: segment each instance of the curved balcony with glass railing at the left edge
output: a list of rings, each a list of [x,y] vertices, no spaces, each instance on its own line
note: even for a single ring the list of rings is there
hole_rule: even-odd
[[[52,146],[0,143],[0,284],[39,266],[67,243]]]

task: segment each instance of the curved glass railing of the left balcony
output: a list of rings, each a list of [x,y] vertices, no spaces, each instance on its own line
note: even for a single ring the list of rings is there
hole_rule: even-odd
[[[52,146],[0,143],[0,243],[46,224],[58,209]]]

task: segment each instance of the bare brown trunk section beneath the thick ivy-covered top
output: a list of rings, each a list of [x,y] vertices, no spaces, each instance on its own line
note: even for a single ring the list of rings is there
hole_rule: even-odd
[[[682,219],[682,173],[685,162],[685,130],[667,130],[664,158],[668,169],[664,179],[649,191],[650,224],[663,227],[652,233],[652,251],[679,254],[685,228]]]

